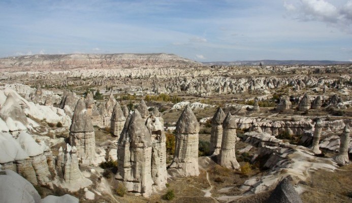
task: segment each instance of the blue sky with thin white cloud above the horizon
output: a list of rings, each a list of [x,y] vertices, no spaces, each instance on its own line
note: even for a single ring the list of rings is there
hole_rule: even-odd
[[[0,57],[352,61],[352,0],[1,0],[0,27]]]

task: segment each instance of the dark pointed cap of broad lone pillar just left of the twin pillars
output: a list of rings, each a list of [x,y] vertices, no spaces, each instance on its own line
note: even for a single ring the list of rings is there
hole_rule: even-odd
[[[199,128],[195,114],[187,105],[176,123],[176,133],[198,133]]]

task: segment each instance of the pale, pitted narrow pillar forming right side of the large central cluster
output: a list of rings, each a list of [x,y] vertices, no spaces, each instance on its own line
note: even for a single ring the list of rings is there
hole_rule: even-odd
[[[157,189],[165,189],[167,183],[166,171],[166,137],[164,126],[159,117],[150,115],[146,126],[151,134],[151,178]]]

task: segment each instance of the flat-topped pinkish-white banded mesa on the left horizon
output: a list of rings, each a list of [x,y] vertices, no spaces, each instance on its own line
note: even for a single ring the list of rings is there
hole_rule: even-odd
[[[85,69],[113,69],[115,67],[185,66],[187,64],[200,63],[165,53],[30,55],[2,58],[0,59],[0,70],[70,70],[78,67]]]

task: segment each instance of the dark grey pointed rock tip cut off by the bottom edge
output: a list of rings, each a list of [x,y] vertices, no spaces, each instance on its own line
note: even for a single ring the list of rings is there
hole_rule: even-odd
[[[302,203],[300,195],[296,192],[290,181],[283,179],[271,193],[268,203]]]

